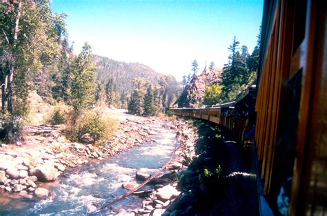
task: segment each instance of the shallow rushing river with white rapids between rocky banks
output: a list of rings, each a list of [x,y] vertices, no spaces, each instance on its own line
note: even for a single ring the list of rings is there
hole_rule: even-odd
[[[141,208],[141,199],[130,195],[112,208],[98,210],[128,192],[121,184],[141,183],[135,180],[137,170],[143,168],[152,174],[166,164],[177,141],[175,132],[162,124],[149,125],[159,131],[159,135],[152,136],[153,141],[97,163],[71,168],[56,182],[44,184],[53,194],[48,199],[21,199],[1,192],[0,215],[109,215],[114,213],[112,209]]]

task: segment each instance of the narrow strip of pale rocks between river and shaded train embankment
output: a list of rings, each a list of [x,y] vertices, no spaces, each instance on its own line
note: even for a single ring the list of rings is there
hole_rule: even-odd
[[[195,143],[198,135],[192,124],[184,119],[168,121],[164,126],[175,130],[177,133],[178,146],[175,152],[177,157],[168,164],[158,177],[149,182],[152,185],[152,190],[135,193],[135,195],[145,196],[142,208],[134,210],[120,209],[118,215],[170,215],[170,212],[166,212],[166,209],[181,196],[181,191],[177,190],[178,182],[188,172],[188,165],[197,157],[195,155]],[[135,178],[146,180],[150,178],[150,175],[137,172]],[[123,187],[130,190],[137,186],[135,184],[123,184]]]

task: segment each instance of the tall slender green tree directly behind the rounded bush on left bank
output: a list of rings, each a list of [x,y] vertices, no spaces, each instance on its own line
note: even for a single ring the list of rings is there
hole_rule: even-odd
[[[92,65],[92,50],[84,43],[81,53],[72,66],[72,108],[76,115],[86,110],[95,102],[95,66]]]

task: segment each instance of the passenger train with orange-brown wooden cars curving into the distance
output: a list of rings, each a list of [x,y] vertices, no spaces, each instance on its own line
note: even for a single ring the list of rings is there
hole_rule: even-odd
[[[265,0],[256,85],[226,104],[168,109],[219,124],[239,144],[255,113],[254,165],[275,215],[327,215],[326,23],[327,1]],[[286,182],[290,201],[281,213]]]

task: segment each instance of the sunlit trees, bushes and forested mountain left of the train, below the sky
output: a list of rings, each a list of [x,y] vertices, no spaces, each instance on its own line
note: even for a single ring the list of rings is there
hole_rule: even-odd
[[[135,97],[130,99],[132,92],[137,92],[142,97],[138,98],[142,112],[132,113],[143,114],[144,106],[144,115],[157,115],[176,99],[180,87],[175,77],[141,63],[94,55],[88,43],[76,55],[68,42],[67,14],[52,12],[50,3],[0,3],[0,133],[4,141],[19,143],[23,126],[33,124],[36,115],[44,112],[48,118],[40,121],[66,124],[71,141],[90,134],[95,144],[108,137],[109,126],[115,125],[101,112],[94,112],[97,108],[128,108],[137,102]],[[135,86],[137,80],[144,80],[147,87],[143,82]],[[149,91],[146,105],[143,88]],[[152,110],[155,102],[158,108]]]

